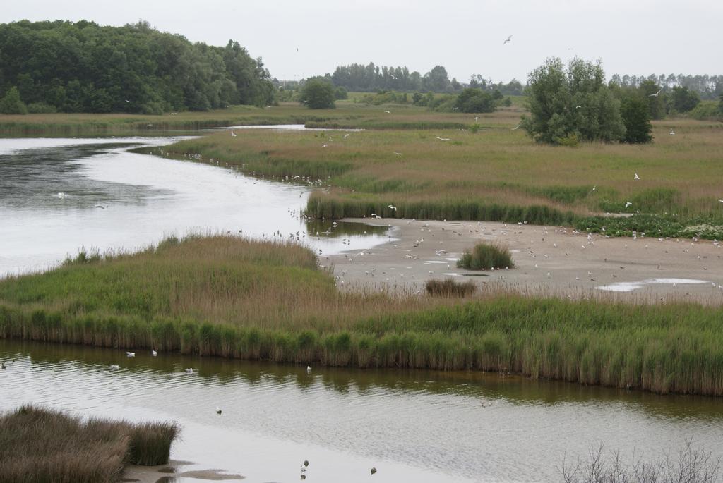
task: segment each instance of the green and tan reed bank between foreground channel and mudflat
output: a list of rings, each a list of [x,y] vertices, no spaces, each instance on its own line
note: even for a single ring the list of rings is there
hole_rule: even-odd
[[[249,360],[512,372],[723,395],[720,308],[343,293],[311,251],[168,240],[0,281],[0,336]]]

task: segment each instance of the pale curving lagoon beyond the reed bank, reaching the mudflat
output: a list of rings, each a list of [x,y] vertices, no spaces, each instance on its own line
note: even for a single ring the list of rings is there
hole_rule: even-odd
[[[307,226],[308,186],[129,152],[176,139],[0,139],[0,277],[48,269],[83,247],[132,251],[188,232],[280,231],[276,240],[327,254],[388,239],[383,227]]]

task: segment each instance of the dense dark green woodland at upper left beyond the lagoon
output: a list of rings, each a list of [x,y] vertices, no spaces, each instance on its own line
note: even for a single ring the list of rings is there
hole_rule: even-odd
[[[0,96],[17,87],[30,112],[163,113],[267,105],[274,87],[239,43],[191,43],[147,22],[0,25]]]

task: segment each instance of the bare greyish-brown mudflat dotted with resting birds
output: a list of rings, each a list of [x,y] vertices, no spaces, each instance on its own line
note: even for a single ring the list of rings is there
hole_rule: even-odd
[[[454,277],[486,287],[562,297],[664,297],[664,301],[683,298],[723,303],[723,251],[710,240],[589,238],[570,228],[497,222],[345,221],[389,226],[392,238],[369,250],[355,250],[350,245],[346,253],[320,258],[322,265],[333,266],[337,283],[344,290],[389,287],[424,292],[427,279]],[[481,240],[506,245],[512,251],[515,268],[484,272],[458,269],[456,259]]]

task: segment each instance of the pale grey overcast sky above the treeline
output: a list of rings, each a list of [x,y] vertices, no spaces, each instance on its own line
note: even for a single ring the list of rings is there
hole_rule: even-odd
[[[144,19],[192,41],[238,40],[278,79],[373,61],[524,82],[549,56],[600,58],[608,78],[723,74],[721,0],[3,0],[0,22],[20,19]]]

